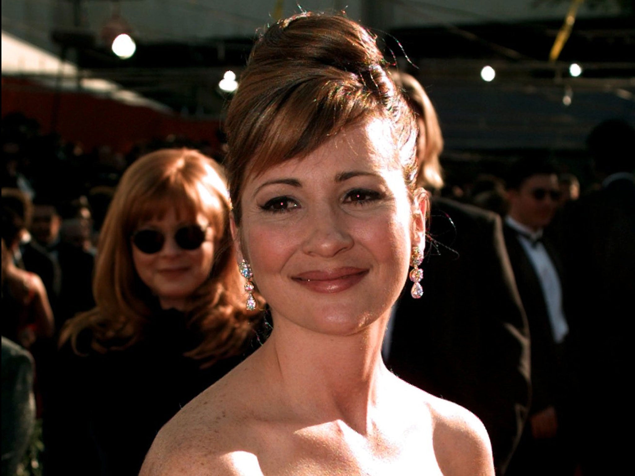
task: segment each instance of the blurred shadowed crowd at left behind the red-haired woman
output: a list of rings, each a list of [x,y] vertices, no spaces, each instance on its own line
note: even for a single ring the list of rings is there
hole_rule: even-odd
[[[124,171],[138,157],[154,150],[189,147],[187,150],[201,150],[209,156],[222,151],[211,150],[209,143],[194,143],[171,136],[140,144],[125,155],[107,146],[84,152],[80,144],[64,143],[55,135],[42,135],[39,124],[20,113],[3,117],[1,136],[3,474],[15,473],[18,465],[23,463],[20,455],[25,454],[26,441],[34,427],[23,421],[25,419],[43,426],[46,446],[54,447],[55,442],[60,443],[56,458],[48,458],[48,473],[55,474],[58,472],[56,461],[66,458],[67,454],[75,455],[73,458],[77,461],[90,460],[90,456],[83,456],[83,451],[73,443],[82,440],[85,443],[88,432],[75,432],[73,441],[68,438],[72,434],[73,421],[67,418],[70,416],[69,395],[64,397],[69,401],[62,409],[60,393],[51,393],[51,390],[58,388],[65,378],[65,374],[60,373],[60,356],[65,355],[60,352],[62,329],[76,315],[97,306],[93,278],[98,242]],[[104,286],[110,289],[114,284]],[[72,364],[74,360],[70,359],[63,365],[70,367]],[[13,365],[17,368],[10,372]],[[5,377],[13,384],[5,385]],[[81,377],[84,383],[85,377]],[[30,385],[18,385],[30,381],[27,379],[32,380]],[[202,390],[210,383],[201,380],[193,385]],[[195,393],[192,391],[189,398]],[[22,402],[22,406],[20,411],[10,413],[8,402],[14,399]],[[7,409],[6,414],[4,409]],[[47,421],[54,420],[51,416],[62,411],[66,411],[64,420],[51,430],[53,425],[47,425]],[[77,408],[74,412],[78,418],[83,418]],[[61,451],[62,446],[69,453]],[[44,454],[40,456],[42,461],[37,463],[43,464],[47,458]],[[27,473],[32,469],[28,463],[26,468],[20,467]],[[64,472],[69,473],[65,468]]]

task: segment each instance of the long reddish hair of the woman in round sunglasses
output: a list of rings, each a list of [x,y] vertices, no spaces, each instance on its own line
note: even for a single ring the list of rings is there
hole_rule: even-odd
[[[220,203],[220,213],[219,206]],[[138,223],[161,218],[177,207],[192,218],[202,212],[215,230],[215,256],[210,276],[190,296],[187,327],[199,334],[199,345],[187,352],[202,366],[238,354],[253,329],[256,312],[244,304],[241,276],[232,246],[229,194],[217,162],[190,149],[162,149],[144,155],[126,169],[110,202],[100,231],[93,277],[97,306],[70,319],[60,343],[91,331],[91,348],[107,352],[142,338],[156,312],[156,298],[138,277],[130,236]]]

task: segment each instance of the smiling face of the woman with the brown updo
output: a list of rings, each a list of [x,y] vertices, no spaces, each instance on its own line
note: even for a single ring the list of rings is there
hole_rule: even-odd
[[[239,253],[276,325],[352,334],[387,319],[424,215],[386,129],[382,121],[347,129],[307,157],[247,179]]]

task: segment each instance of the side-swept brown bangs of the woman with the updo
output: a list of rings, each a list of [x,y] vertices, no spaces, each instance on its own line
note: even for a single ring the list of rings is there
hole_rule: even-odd
[[[237,169],[241,171],[229,184],[234,197],[241,196],[245,177],[305,157],[342,129],[369,117],[387,116],[356,75],[335,68],[324,73],[324,69],[316,70],[290,88],[277,88],[271,94],[262,93],[261,87],[256,97],[262,100],[250,108],[251,121],[244,120],[232,140],[235,147],[230,160],[240,164]],[[239,210],[239,204],[233,205]]]

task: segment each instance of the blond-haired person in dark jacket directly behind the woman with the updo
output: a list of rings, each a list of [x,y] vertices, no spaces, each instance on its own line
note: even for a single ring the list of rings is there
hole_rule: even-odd
[[[443,187],[443,138],[415,78],[393,73],[417,114],[418,185]],[[475,413],[490,435],[502,475],[530,399],[529,342],[498,215],[432,195],[424,294],[410,286],[393,310],[384,359],[399,377]]]

